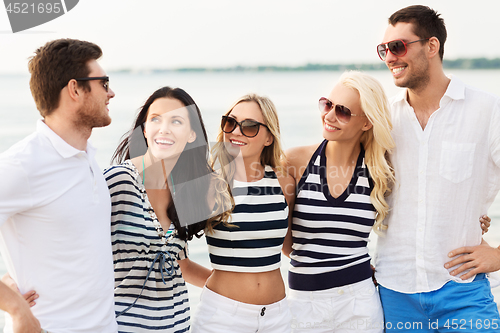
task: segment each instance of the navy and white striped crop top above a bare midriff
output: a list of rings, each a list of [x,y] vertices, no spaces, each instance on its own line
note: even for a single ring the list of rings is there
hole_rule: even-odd
[[[256,182],[234,180],[235,207],[231,226],[219,223],[206,234],[214,269],[269,272],[281,265],[281,248],[288,230],[288,205],[270,166]]]

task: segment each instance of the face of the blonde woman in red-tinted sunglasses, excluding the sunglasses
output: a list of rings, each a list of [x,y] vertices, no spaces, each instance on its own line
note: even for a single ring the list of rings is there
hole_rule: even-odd
[[[338,104],[347,107],[352,114],[364,114],[361,109],[359,93],[341,83],[338,83],[333,88],[328,99],[334,105]],[[328,113],[322,113],[321,121],[323,122],[323,137],[328,141],[359,141],[363,132],[372,127],[368,118],[362,116],[351,117],[347,124],[339,122],[335,116],[335,108]]]

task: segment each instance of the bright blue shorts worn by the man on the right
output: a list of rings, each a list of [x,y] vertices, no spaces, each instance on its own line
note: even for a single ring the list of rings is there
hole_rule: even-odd
[[[449,281],[438,290],[405,294],[379,285],[386,332],[500,332],[490,282]]]

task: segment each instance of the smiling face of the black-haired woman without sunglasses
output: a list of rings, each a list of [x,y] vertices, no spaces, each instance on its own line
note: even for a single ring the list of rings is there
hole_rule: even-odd
[[[144,123],[148,150],[156,159],[179,156],[186,144],[196,140],[188,110],[174,98],[158,98],[148,110]]]

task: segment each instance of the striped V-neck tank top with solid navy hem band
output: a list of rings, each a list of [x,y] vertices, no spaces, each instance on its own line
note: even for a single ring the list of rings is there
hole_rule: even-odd
[[[368,235],[375,222],[364,150],[344,193],[330,195],[323,141],[299,182],[293,212],[290,289],[325,290],[370,278]]]

